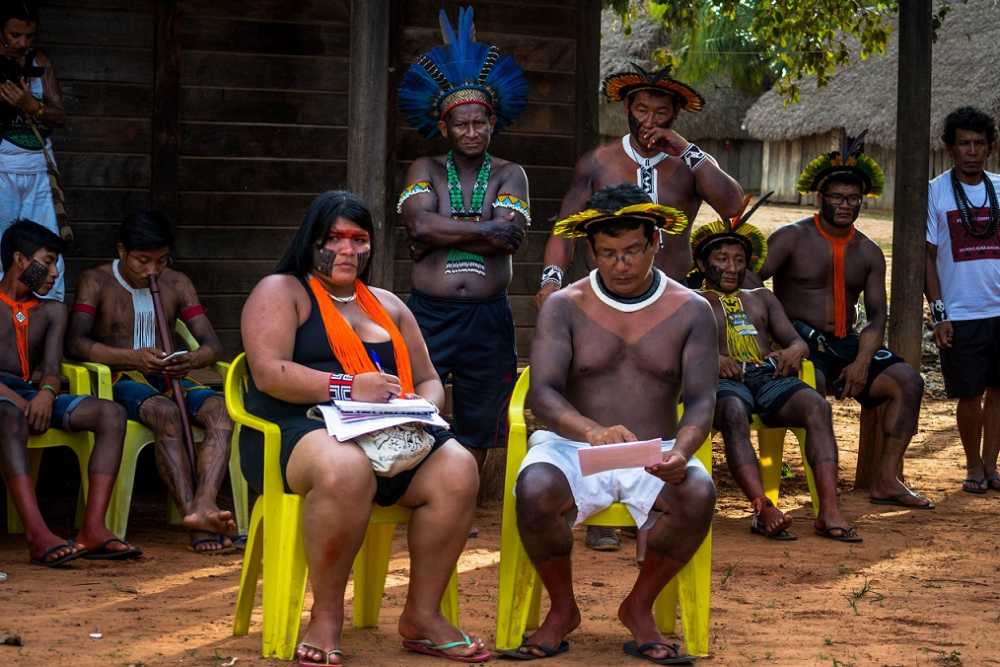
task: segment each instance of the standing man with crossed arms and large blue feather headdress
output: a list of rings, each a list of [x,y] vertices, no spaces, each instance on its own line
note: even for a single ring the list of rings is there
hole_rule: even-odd
[[[507,286],[531,214],[524,169],[487,152],[493,133],[524,109],[527,83],[512,57],[473,37],[472,9],[461,9],[457,41],[422,56],[403,79],[410,124],[440,134],[448,152],[413,162],[397,210],[414,259],[407,305],[438,375],[451,380],[452,429],[481,474],[487,450],[507,440],[517,374]]]

